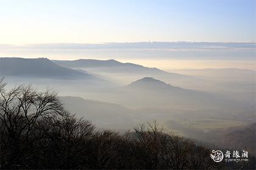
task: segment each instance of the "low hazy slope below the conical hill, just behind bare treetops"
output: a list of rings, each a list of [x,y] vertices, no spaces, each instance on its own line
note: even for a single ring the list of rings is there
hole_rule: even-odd
[[[132,110],[118,104],[95,100],[85,100],[80,97],[60,97],[64,107],[77,117],[84,117],[100,127],[123,129],[133,126],[130,119]]]

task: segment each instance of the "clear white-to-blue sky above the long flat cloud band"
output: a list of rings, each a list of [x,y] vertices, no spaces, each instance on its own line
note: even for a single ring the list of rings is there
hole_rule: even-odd
[[[256,41],[254,0],[0,0],[0,44]]]

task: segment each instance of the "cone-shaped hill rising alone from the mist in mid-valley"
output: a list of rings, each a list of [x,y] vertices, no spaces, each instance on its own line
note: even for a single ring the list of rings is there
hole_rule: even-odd
[[[239,103],[215,97],[197,90],[171,86],[154,78],[141,78],[127,86],[116,89],[111,102],[129,107],[162,107],[187,109],[244,109]]]

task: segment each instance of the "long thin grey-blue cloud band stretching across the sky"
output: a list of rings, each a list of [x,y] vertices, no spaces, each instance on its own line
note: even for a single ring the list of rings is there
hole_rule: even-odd
[[[0,49],[256,49],[255,42],[106,42],[102,44],[49,43],[13,46],[0,44]]]

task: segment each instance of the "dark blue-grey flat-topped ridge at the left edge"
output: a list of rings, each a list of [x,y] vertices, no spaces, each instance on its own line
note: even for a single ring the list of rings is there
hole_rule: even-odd
[[[59,66],[47,58],[0,58],[0,75],[37,78],[93,78],[87,73]]]

